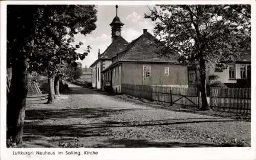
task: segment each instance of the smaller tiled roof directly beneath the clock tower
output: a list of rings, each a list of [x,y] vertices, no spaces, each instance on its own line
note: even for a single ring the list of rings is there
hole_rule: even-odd
[[[123,51],[123,49],[128,45],[129,43],[123,39],[123,37],[119,36],[115,39],[113,43],[110,44],[108,48],[103,52],[103,54],[100,56],[100,59],[112,59],[116,56],[119,52]]]

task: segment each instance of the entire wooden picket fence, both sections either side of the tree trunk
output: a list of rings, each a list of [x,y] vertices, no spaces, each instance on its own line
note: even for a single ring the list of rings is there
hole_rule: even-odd
[[[198,107],[198,89],[122,84],[121,92],[169,105]],[[210,108],[216,111],[250,114],[250,88],[211,88]]]

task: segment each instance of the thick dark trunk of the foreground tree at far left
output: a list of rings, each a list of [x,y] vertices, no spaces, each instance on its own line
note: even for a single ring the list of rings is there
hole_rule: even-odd
[[[22,55],[23,53],[19,53]],[[28,93],[28,64],[25,57],[18,57],[12,66],[12,79],[7,105],[7,139],[22,144],[23,126]]]

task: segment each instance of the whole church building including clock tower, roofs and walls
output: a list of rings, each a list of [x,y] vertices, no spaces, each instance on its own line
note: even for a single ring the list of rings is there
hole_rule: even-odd
[[[157,39],[146,29],[128,43],[121,36],[124,24],[117,14],[110,25],[112,43],[91,65],[94,88],[121,93],[122,84],[188,86],[187,67],[175,55],[160,57]]]

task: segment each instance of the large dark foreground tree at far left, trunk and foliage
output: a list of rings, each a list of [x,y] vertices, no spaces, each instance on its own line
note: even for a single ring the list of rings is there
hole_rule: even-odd
[[[48,61],[45,53],[56,53],[63,36],[87,35],[96,29],[93,5],[8,5],[7,6],[7,66],[12,78],[7,106],[7,138],[22,143],[28,91],[28,72],[39,70],[36,57]],[[69,32],[65,32],[65,28]],[[66,49],[68,50],[68,49]],[[68,50],[70,51],[70,49]],[[65,58],[60,55],[60,58]],[[83,59],[86,55],[80,55]],[[58,59],[58,58],[56,58]],[[67,58],[71,63],[71,59]],[[54,70],[53,70],[54,71]]]

